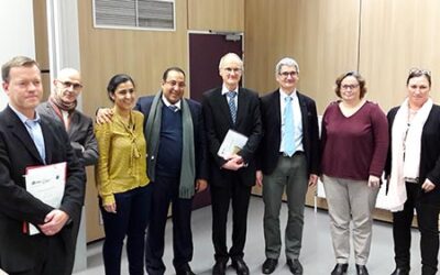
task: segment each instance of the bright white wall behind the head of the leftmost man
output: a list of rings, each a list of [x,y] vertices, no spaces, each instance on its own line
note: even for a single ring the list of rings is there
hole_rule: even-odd
[[[35,58],[34,14],[32,0],[0,1],[0,64],[16,55]],[[8,97],[0,89],[0,110]]]

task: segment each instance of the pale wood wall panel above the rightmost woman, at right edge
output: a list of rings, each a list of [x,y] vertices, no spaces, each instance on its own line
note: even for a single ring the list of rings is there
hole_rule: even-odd
[[[440,2],[436,0],[362,1],[360,72],[369,85],[369,98],[387,111],[406,96],[411,67],[432,70],[435,101],[440,95]]]

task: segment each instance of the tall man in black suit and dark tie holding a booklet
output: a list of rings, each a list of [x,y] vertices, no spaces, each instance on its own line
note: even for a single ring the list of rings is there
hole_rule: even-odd
[[[229,53],[220,59],[222,87],[204,94],[204,116],[210,160],[210,189],[212,200],[212,242],[216,265],[212,274],[226,272],[229,258],[238,274],[249,274],[243,261],[246,239],[248,207],[251,187],[255,184],[254,153],[262,138],[258,97],[239,87],[243,62]],[[244,147],[233,155],[220,157],[218,151],[229,130],[249,138]],[[232,246],[227,248],[227,220],[232,200]]]

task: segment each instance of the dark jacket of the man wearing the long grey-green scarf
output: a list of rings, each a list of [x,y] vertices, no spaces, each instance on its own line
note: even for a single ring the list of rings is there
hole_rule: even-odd
[[[153,103],[154,96],[140,97],[138,99],[135,110],[144,114],[144,131],[146,131],[146,120],[148,119],[150,110]],[[194,145],[196,154],[196,179],[208,179],[208,167],[207,167],[207,147],[205,136],[205,123],[204,116],[201,113],[201,106],[197,101],[184,98],[191,111],[193,129],[194,129]],[[148,144],[148,136],[145,135],[145,140]],[[148,155],[148,162],[157,160],[157,155]],[[147,167],[148,168],[148,167]]]

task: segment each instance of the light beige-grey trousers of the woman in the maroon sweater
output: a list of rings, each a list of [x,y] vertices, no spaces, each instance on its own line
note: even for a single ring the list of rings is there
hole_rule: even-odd
[[[371,188],[366,180],[352,180],[323,175],[323,187],[329,206],[330,232],[337,263],[349,263],[350,221],[353,222],[355,263],[365,265],[372,241],[372,211],[378,188]]]

